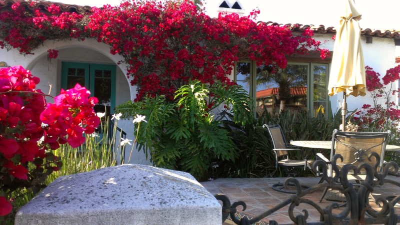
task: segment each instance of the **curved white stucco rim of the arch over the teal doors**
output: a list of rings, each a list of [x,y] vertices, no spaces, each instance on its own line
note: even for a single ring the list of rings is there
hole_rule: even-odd
[[[61,50],[65,48],[87,48],[94,50],[96,52],[99,52],[100,54],[103,54],[104,56],[108,57],[112,62],[114,62],[119,69],[123,72],[123,74],[126,75],[126,64],[121,63],[117,64],[118,61],[123,60],[122,56],[120,55],[112,55],[109,52],[109,45],[97,42],[93,38],[86,38],[84,41],[77,41],[77,40],[66,40],[66,41],[52,41],[52,40],[46,40],[43,43],[43,46],[39,46],[37,49],[35,49],[32,53],[33,55],[20,55],[21,57],[19,60],[16,59],[17,61],[21,62],[20,65],[24,66],[26,69],[31,70],[32,67],[36,64],[36,61],[39,60],[41,57],[45,56],[47,57],[47,50],[48,49],[56,49],[56,50]],[[15,50],[15,49],[12,49]],[[11,50],[11,51],[12,51]],[[15,50],[16,51],[16,50]],[[19,58],[19,57],[18,57]],[[125,79],[127,80],[128,83],[129,80],[127,79],[126,76],[124,76]],[[130,90],[130,99],[133,99],[136,95],[136,86],[131,86],[129,85],[129,90]]]

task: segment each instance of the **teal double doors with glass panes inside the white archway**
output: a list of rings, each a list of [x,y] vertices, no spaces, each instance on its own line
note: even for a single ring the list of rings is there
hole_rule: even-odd
[[[79,83],[98,99],[98,110],[113,113],[115,108],[115,65],[62,62],[61,88],[69,89]],[[102,108],[102,109],[101,109]]]

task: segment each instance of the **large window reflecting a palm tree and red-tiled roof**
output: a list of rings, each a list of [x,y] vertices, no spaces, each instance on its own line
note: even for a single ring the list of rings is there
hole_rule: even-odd
[[[256,67],[253,61],[235,66],[235,82],[254,97],[257,116],[281,109],[306,109],[316,116],[327,109],[328,64],[288,63],[274,74],[270,71],[270,66]]]

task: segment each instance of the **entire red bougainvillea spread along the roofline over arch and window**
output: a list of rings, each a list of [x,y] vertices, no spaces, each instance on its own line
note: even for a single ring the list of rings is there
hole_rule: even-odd
[[[227,75],[239,58],[283,68],[286,56],[295,53],[320,50],[326,56],[312,30],[293,35],[291,27],[257,24],[258,13],[210,18],[190,0],[124,1],[83,14],[56,5],[29,11],[17,2],[0,13],[0,47],[29,54],[47,39],[96,38],[123,56],[130,83],[138,87],[136,100],[157,94],[172,100],[188,80],[233,84]],[[48,51],[49,59],[56,56],[56,50]]]

